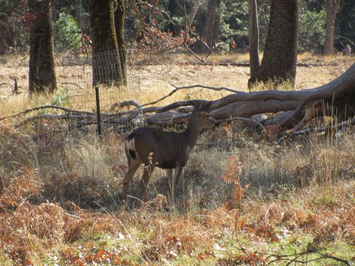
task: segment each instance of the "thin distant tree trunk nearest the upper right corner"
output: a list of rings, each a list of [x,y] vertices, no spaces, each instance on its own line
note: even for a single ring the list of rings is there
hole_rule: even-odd
[[[327,18],[325,25],[325,43],[324,54],[332,55],[334,53],[334,24],[335,17],[339,9],[340,0],[327,0]]]

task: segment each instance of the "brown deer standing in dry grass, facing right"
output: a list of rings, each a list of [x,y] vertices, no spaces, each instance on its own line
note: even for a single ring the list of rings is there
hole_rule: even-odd
[[[209,116],[212,101],[204,101],[196,105],[185,131],[163,131],[158,128],[136,128],[126,137],[125,151],[128,160],[128,171],[123,180],[123,198],[127,202],[129,182],[138,167],[143,164],[143,177],[140,182],[143,200],[148,200],[147,185],[155,167],[167,170],[173,203],[175,192],[182,173],[187,164],[190,151],[194,148],[202,128],[213,128],[217,121]],[[173,182],[174,170],[174,182]]]

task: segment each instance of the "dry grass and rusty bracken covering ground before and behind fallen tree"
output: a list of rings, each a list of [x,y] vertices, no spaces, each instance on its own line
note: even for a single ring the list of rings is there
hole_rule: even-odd
[[[26,88],[26,67],[6,60],[1,82],[16,77]],[[298,67],[297,89],[329,82],[348,66]],[[146,66],[142,97],[155,100],[170,83],[244,89],[248,73],[245,67],[170,65],[162,72]],[[167,101],[219,96],[186,91]],[[52,100],[10,96],[0,100],[0,117]],[[81,131],[33,139],[36,125],[11,122],[0,122],[0,265],[344,265],[355,259],[354,128],[283,145],[255,143],[253,130],[239,123],[203,133],[173,207],[163,170],[154,172],[151,201],[139,201],[135,178],[131,202],[122,204],[122,135],[99,140]]]

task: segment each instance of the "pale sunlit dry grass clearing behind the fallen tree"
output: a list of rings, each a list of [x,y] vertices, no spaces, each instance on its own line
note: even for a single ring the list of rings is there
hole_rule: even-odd
[[[244,91],[247,89],[249,79],[249,67],[233,67],[233,66],[203,66],[203,65],[177,65],[175,62],[198,62],[192,55],[172,55],[168,57],[161,65],[146,65],[138,70],[141,79],[143,103],[156,100],[161,95],[168,94],[173,87],[190,84],[204,84],[215,87],[231,87],[237,90]],[[28,58],[23,60],[19,56],[2,57],[3,62],[0,68],[0,80],[13,84],[13,79],[16,78],[21,91],[26,92],[28,89]],[[58,58],[59,60],[59,58]],[[248,62],[248,54],[233,54],[233,55],[212,55],[208,62]],[[339,74],[342,74],[354,62],[352,57],[344,57],[342,55],[334,55],[332,57],[324,57],[321,55],[312,55],[304,53],[298,56],[298,62],[316,62],[339,64],[338,66],[328,67],[297,67],[296,89],[305,89],[317,87],[325,84]],[[87,69],[89,71],[89,66]],[[77,70],[71,71],[70,68],[63,70],[63,67],[57,68],[58,82],[65,82],[67,79],[72,80],[77,74]],[[89,81],[84,81],[82,87],[87,87]],[[0,88],[0,96],[11,94],[11,87],[4,86]],[[175,94],[169,101],[178,99],[186,99],[189,97],[205,97],[208,99],[217,99],[226,95],[226,92],[206,92],[206,90],[198,90],[197,92],[185,90]],[[13,106],[18,108],[26,108],[26,99],[23,96],[18,96]],[[41,101],[43,102],[43,101]],[[13,110],[13,109],[11,109]]]

